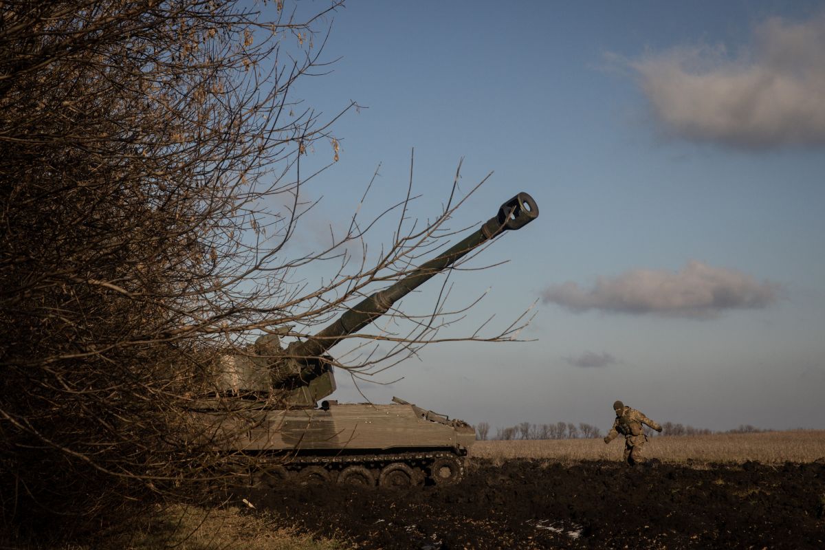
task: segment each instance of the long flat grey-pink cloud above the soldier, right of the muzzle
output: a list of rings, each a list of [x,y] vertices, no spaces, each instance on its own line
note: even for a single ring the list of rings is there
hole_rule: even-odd
[[[666,317],[718,317],[728,309],[766,308],[779,286],[757,283],[737,270],[690,261],[681,271],[631,270],[614,279],[600,277],[592,289],[567,282],[542,292],[542,302],[575,312],[653,313]]]

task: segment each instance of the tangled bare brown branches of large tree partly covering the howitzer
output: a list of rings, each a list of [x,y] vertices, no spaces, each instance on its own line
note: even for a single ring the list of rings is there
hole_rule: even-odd
[[[9,529],[63,517],[72,521],[54,525],[65,533],[214,476],[225,457],[180,434],[215,355],[273,325],[295,324],[301,336],[454,233],[446,223],[461,200],[450,195],[421,225],[410,223],[408,192],[387,210],[397,229],[374,259],[353,260],[344,246],[372,227],[357,214],[328,247],[286,253],[313,205],[302,190],[326,166],[307,173],[307,156],[323,145],[337,160],[338,114],[324,117],[292,92],[326,70],[324,17],[337,6],[300,16],[276,2],[266,21],[235,0],[3,2],[0,504]],[[295,273],[313,262],[336,267],[309,288]],[[465,310],[446,307],[448,290],[403,331],[356,335],[394,347],[356,347],[340,366],[367,376],[437,341]],[[520,326],[467,339],[509,339]]]

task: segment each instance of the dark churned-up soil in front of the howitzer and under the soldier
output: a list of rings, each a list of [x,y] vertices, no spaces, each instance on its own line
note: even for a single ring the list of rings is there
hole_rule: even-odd
[[[453,487],[290,487],[256,496],[358,548],[825,548],[825,464],[474,459]]]

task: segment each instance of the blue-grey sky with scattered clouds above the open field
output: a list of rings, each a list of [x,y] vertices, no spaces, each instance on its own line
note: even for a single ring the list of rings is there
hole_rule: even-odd
[[[616,399],[697,428],[825,429],[825,2],[349,2],[325,22],[337,61],[295,93],[361,109],[333,127],[301,235],[345,222],[376,169],[365,209],[403,199],[413,149],[421,220],[460,162],[462,194],[489,177],[450,227],[519,191],[540,208],[468,264],[493,267],[450,275],[455,303],[483,295],[451,330],[532,308],[525,341],[429,346],[366,397],[493,434],[605,431]]]

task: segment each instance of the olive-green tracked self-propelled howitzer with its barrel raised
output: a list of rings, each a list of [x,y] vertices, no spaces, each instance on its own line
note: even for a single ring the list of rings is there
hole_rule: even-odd
[[[469,237],[361,300],[315,336],[282,350],[278,334],[289,332],[284,328],[259,338],[252,354],[224,356],[220,392],[245,397],[237,407],[243,416],[230,420],[215,417],[220,413],[214,411],[212,431],[231,435],[227,450],[265,458],[257,460],[258,465],[266,463],[255,474],[259,487],[271,482],[457,482],[464,475],[463,457],[475,440],[472,426],[396,397],[392,405],[330,400],[318,408],[318,401],[336,389],[332,358],[324,354],[462,256],[538,215],[532,197],[519,193]]]

